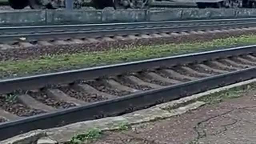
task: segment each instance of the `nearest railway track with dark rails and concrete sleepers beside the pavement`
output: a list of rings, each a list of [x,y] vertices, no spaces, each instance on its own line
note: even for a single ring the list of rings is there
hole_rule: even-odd
[[[0,80],[0,140],[256,77],[256,45]]]

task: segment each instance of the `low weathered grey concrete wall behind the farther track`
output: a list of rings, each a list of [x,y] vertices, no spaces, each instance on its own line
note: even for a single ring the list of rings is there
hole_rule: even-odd
[[[0,25],[89,24],[212,18],[256,18],[254,9],[26,10],[0,12]]]

